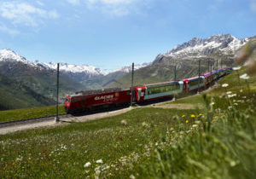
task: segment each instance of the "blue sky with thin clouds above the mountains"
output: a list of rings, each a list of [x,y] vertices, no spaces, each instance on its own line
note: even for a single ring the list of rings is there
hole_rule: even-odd
[[[189,39],[256,35],[256,0],[1,0],[0,49],[112,70]]]

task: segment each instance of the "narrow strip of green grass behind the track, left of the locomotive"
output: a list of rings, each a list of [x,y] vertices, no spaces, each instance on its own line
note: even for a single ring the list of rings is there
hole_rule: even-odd
[[[7,121],[15,121],[26,118],[38,118],[45,116],[52,116],[56,113],[55,106],[49,107],[32,107],[23,109],[14,109],[8,111],[0,111],[0,123]],[[59,114],[64,114],[65,108],[63,105],[59,106]]]

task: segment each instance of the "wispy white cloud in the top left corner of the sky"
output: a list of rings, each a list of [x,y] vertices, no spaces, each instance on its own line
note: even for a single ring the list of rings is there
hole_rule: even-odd
[[[0,3],[0,14],[11,20],[13,24],[38,26],[45,19],[56,19],[59,14],[55,10],[37,8],[28,3],[3,2]]]

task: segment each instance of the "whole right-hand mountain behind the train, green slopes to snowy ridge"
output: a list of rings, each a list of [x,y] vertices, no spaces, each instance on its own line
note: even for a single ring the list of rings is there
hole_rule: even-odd
[[[134,84],[151,84],[174,79],[176,66],[177,79],[198,75],[199,61],[201,73],[220,66],[232,66],[239,49],[250,38],[239,39],[230,34],[218,34],[209,38],[192,38],[157,55],[151,65],[137,70],[134,74]],[[131,75],[119,78],[118,82],[108,87],[127,88],[131,86]]]

